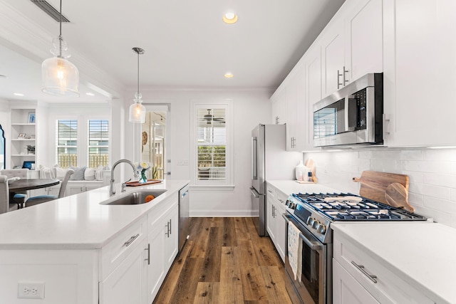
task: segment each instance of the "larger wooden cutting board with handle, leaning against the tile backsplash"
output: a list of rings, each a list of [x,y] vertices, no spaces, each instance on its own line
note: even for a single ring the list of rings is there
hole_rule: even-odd
[[[408,181],[408,175],[378,171],[363,171],[361,177],[353,177],[353,182],[361,183],[359,195],[384,204],[388,204],[385,192],[390,184],[399,183],[403,185],[408,194]]]

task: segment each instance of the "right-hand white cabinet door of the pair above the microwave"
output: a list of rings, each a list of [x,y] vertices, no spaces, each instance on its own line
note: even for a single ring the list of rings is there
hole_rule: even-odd
[[[383,1],[358,0],[345,19],[345,65],[349,80],[383,72]]]

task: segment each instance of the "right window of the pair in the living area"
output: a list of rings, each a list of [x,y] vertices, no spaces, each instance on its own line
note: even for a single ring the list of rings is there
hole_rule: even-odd
[[[103,167],[108,164],[109,152],[108,120],[88,121],[88,167]]]

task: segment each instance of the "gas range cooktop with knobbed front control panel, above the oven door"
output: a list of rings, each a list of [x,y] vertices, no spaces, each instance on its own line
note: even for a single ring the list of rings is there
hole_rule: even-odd
[[[331,243],[333,221],[426,221],[424,216],[351,193],[291,194],[287,211],[322,243]]]

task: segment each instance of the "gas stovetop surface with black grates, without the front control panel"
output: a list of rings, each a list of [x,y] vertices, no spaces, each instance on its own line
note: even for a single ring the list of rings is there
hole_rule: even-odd
[[[425,221],[413,214],[387,204],[351,193],[293,194],[302,203],[327,216],[331,221]],[[331,201],[340,198],[340,200]],[[347,199],[343,199],[347,198]],[[329,200],[329,201],[328,201]],[[296,209],[295,212],[296,214]],[[299,210],[296,216],[299,217]],[[306,219],[303,219],[306,221]]]

